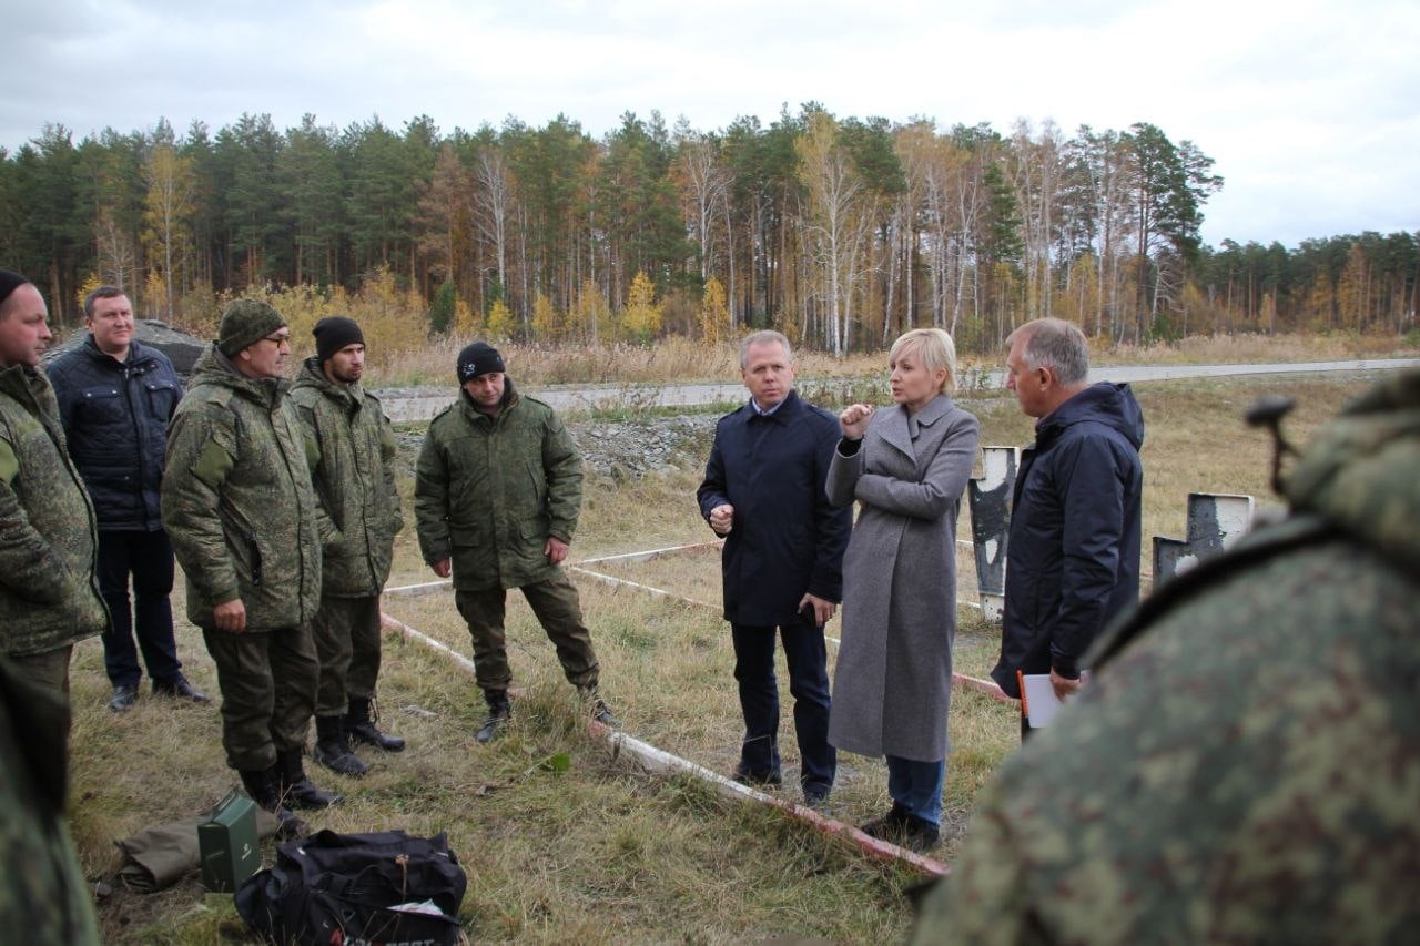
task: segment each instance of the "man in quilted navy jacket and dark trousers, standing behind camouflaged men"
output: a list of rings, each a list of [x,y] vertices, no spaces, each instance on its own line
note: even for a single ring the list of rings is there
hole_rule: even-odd
[[[104,635],[104,666],[114,685],[108,706],[121,713],[138,699],[139,649],[155,693],[206,703],[178,659],[169,602],[173,550],[159,510],[168,420],[182,381],[168,355],[133,337],[133,307],[122,290],[101,286],[89,293],[84,324],[89,337],[55,358],[48,375],[70,455],[98,514],[98,582],[114,615]]]

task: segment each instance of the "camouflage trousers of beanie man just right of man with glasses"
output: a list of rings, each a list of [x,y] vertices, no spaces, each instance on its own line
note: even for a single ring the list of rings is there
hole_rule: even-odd
[[[369,598],[321,597],[311,621],[315,653],[321,658],[321,683],[315,692],[317,716],[344,716],[351,697],[375,696],[379,676],[379,595]]]

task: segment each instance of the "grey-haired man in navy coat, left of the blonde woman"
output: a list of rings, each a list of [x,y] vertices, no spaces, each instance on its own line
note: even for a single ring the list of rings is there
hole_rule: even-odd
[[[824,624],[842,597],[852,510],[834,509],[824,480],[838,419],[794,392],[794,351],[774,331],[740,342],[750,403],[716,426],[700,513],[724,537],[724,616],[734,639],[744,744],[736,778],[777,785],[780,697],[774,631],[784,641],[804,801],[828,798],[838,757],[828,743]]]

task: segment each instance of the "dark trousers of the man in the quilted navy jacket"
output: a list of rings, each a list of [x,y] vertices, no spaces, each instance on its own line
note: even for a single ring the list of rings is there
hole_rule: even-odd
[[[132,608],[128,578],[133,578]],[[114,686],[138,686],[143,652],[153,683],[175,683],[182,673],[178,642],[173,641],[173,547],[168,533],[99,531],[98,587],[114,615],[104,635],[104,669]],[[133,634],[138,634],[138,648]]]

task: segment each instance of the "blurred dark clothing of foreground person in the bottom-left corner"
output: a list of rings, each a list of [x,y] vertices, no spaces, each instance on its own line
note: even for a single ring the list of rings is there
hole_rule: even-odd
[[[0,930],[31,943],[98,943],[94,902],[61,817],[54,753],[68,705],[0,659]]]

